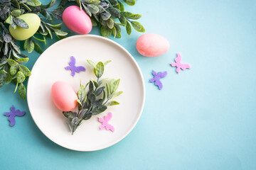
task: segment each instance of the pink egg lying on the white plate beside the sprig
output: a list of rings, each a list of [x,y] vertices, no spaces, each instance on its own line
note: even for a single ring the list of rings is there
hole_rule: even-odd
[[[53,103],[60,111],[72,111],[78,105],[78,95],[69,84],[56,81],[51,89]]]

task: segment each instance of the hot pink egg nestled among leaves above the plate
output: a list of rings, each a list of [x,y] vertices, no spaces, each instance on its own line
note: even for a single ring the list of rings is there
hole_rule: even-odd
[[[68,6],[63,12],[63,22],[75,33],[87,34],[92,30],[92,21],[78,6]]]

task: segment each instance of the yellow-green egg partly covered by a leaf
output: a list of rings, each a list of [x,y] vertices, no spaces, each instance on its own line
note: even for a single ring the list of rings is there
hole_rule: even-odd
[[[17,18],[23,19],[23,21],[28,24],[28,28],[17,26],[17,28],[14,29],[10,26],[9,31],[16,40],[26,40],[31,38],[38,30],[41,23],[41,19],[35,13],[26,13]]]

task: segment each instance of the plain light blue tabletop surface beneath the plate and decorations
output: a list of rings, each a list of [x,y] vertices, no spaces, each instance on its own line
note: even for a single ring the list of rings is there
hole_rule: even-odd
[[[4,86],[0,169],[256,169],[256,1],[138,0],[125,7],[142,13],[146,33],[163,35],[171,45],[149,58],[135,47],[141,33],[123,31],[114,39],[134,56],[145,79],[146,103],[134,130],[97,152],[65,149],[38,130],[14,85]],[[169,66],[177,52],[191,64],[179,74]],[[32,68],[39,55],[29,56]],[[168,72],[161,91],[148,83],[152,69]],[[26,111],[13,128],[4,116],[12,105]]]

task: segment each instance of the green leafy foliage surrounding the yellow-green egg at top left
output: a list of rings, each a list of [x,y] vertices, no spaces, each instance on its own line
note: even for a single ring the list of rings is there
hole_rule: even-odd
[[[56,0],[50,1],[49,4],[42,5],[38,0],[1,0],[0,1],[0,87],[4,84],[13,82],[16,84],[16,90],[21,98],[26,98],[26,88],[23,81],[31,76],[31,71],[23,66],[28,62],[28,56],[21,53],[21,47],[16,44],[16,40],[11,37],[7,29],[9,24],[16,29],[28,28],[28,24],[18,16],[24,13],[36,13],[41,18],[41,26],[36,35],[24,40],[23,49],[28,53],[36,50],[42,53],[43,50],[38,41],[45,42],[46,38],[53,38],[53,33],[59,38],[65,38],[64,31],[60,30],[60,25],[53,25],[56,11],[49,11],[54,6]],[[39,38],[36,38],[36,37]]]

